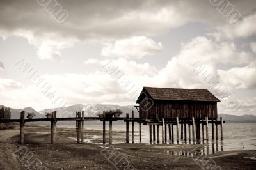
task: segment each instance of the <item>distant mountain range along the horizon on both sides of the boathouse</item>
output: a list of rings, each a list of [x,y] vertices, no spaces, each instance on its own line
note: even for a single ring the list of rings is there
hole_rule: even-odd
[[[3,107],[3,105],[0,105]],[[68,107],[60,107],[60,108],[53,108],[53,109],[44,109],[42,111],[36,111],[32,107],[25,107],[23,109],[13,109],[11,110],[11,118],[18,119],[20,118],[20,112],[25,111],[34,112],[36,115],[34,118],[45,118],[46,112],[57,111],[57,116],[60,117],[76,117],[77,111],[84,111],[84,116],[94,117],[96,116],[97,112],[102,112],[104,110],[110,109],[121,109],[123,114],[121,116],[125,116],[126,113],[129,113],[129,117],[131,117],[132,109],[134,109],[134,117],[138,117],[138,111],[132,105],[120,106],[120,105],[108,105],[108,104],[76,104],[70,105]],[[227,123],[255,123],[256,116],[244,114],[242,116],[230,115],[230,114],[218,114],[218,118],[222,116],[223,120],[227,121]]]

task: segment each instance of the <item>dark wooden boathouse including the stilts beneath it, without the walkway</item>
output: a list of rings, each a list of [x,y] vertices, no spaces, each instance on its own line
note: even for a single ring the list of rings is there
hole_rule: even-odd
[[[136,109],[139,112],[140,118],[147,118],[154,123],[165,123],[165,127],[162,131],[165,131],[167,136],[166,124],[169,123],[169,137],[173,140],[173,121],[176,120],[177,124],[177,142],[179,142],[179,121],[180,121],[180,137],[186,141],[187,138],[187,125],[189,128],[189,141],[190,125],[193,125],[193,141],[194,132],[196,139],[200,139],[202,125],[202,137],[204,139],[204,125],[208,124],[208,119],[212,121],[212,139],[214,139],[214,121],[216,121],[216,139],[218,139],[218,109],[217,103],[220,102],[210,91],[207,89],[180,89],[180,88],[154,88],[144,87],[140,93],[140,96],[136,100]],[[222,122],[222,118],[221,118]],[[155,140],[155,125],[153,125],[153,140]],[[170,126],[172,125],[172,127]],[[195,125],[195,127],[194,127]],[[164,126],[164,125],[163,125]],[[150,131],[151,131],[150,127]],[[195,131],[194,131],[195,128]],[[208,125],[207,139],[208,139]],[[157,135],[159,134],[159,126],[157,125]],[[221,123],[221,139],[222,139],[222,123]],[[165,138],[165,141],[167,139]],[[150,132],[150,141],[151,132]],[[159,142],[159,141],[157,141]]]

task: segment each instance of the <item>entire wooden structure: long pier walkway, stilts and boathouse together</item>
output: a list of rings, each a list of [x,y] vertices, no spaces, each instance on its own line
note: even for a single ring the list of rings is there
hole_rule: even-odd
[[[220,118],[220,120],[217,119],[217,102],[220,102],[218,98],[203,89],[143,88],[140,97],[136,101],[136,103],[139,104],[139,106],[136,106],[139,112],[139,118],[134,118],[134,111],[132,110],[132,117],[129,117],[128,113],[125,117],[120,118],[106,118],[104,116],[86,117],[83,111],[78,111],[76,117],[58,118],[58,113],[54,111],[52,112],[51,118],[25,119],[25,112],[22,111],[20,112],[20,119],[0,119],[0,123],[20,123],[20,144],[24,144],[25,123],[38,121],[51,122],[52,144],[56,143],[56,124],[58,121],[77,122],[77,143],[84,143],[84,121],[102,121],[103,144],[106,144],[106,122],[109,122],[108,143],[112,144],[113,121],[124,121],[126,123],[126,143],[130,143],[130,123],[132,125],[131,143],[134,143],[134,123],[139,124],[139,141],[140,143],[142,142],[142,123],[143,125],[149,125],[150,144],[152,144],[152,142],[156,143],[156,127],[157,144],[160,143],[159,127],[161,127],[162,144],[167,143],[167,141],[174,143],[174,127],[176,127],[177,144],[179,144],[179,139],[185,142],[188,141],[189,144],[192,140],[194,144],[195,141],[199,139],[209,141],[209,124],[212,124],[212,140],[218,140],[218,125],[220,125],[220,139],[223,140],[223,123],[225,123],[225,121],[223,121],[222,118]],[[215,138],[214,125],[216,130]]]

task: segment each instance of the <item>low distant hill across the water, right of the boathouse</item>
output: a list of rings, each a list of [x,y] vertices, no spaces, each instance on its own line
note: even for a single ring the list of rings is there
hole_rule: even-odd
[[[218,118],[222,117],[227,123],[256,123],[256,116],[244,114],[242,116],[230,114],[218,114]]]

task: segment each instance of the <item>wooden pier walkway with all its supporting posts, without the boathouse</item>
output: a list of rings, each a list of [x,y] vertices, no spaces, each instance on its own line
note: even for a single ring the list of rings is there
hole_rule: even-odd
[[[133,113],[133,111],[132,111]],[[18,122],[20,123],[20,144],[24,144],[24,125],[27,122],[38,122],[38,121],[50,121],[51,122],[51,143],[56,143],[56,123],[58,121],[77,121],[77,143],[84,143],[84,121],[102,121],[103,125],[103,132],[102,132],[102,143],[106,144],[106,121],[109,122],[109,144],[112,144],[112,126],[113,121],[124,121],[126,123],[126,143],[129,143],[129,137],[130,137],[130,131],[129,131],[129,124],[132,123],[132,131],[131,131],[131,137],[132,137],[132,143],[134,143],[134,123],[139,123],[139,141],[141,141],[141,123],[143,125],[149,125],[149,141],[150,144],[152,142],[156,142],[155,137],[155,127],[157,126],[157,144],[160,143],[159,139],[159,127],[161,126],[162,130],[162,144],[167,143],[167,139],[169,139],[169,143],[174,143],[174,126],[176,126],[176,141],[177,144],[179,144],[179,139],[181,141],[185,141],[191,143],[191,134],[192,134],[192,140],[193,144],[195,143],[195,139],[199,140],[207,140],[209,141],[209,123],[212,124],[212,140],[216,139],[218,140],[218,126],[220,126],[220,139],[223,140],[223,123],[225,121],[222,120],[220,117],[220,120],[212,119],[211,121],[208,120],[207,117],[205,119],[201,120],[195,120],[194,117],[191,119],[184,119],[184,118],[162,118],[162,120],[157,119],[148,119],[148,118],[134,118],[134,114],[132,114],[132,118],[129,118],[129,114],[126,114],[126,117],[120,117],[120,118],[99,118],[99,117],[86,117],[84,116],[84,112],[77,112],[77,117],[74,118],[58,118],[57,112],[52,112],[51,118],[35,118],[35,119],[25,119],[24,116],[25,112],[20,112],[20,119],[0,119],[0,123],[10,123],[10,122]],[[168,128],[167,128],[168,125]],[[202,130],[200,130],[200,127],[202,125]],[[214,136],[214,125],[215,125],[215,136]],[[179,126],[181,128],[179,128]],[[188,134],[189,137],[187,139],[187,127],[188,126]],[[191,133],[191,126],[192,126],[192,133]],[[204,128],[205,126],[205,128]],[[153,130],[152,130],[153,127]],[[184,127],[184,128],[183,128]],[[167,130],[169,131],[167,133]],[[202,132],[202,133],[201,133]],[[153,133],[153,140],[152,140],[152,133]],[[184,137],[183,137],[184,134]],[[206,139],[205,139],[206,134]],[[169,135],[169,137],[167,136]]]

